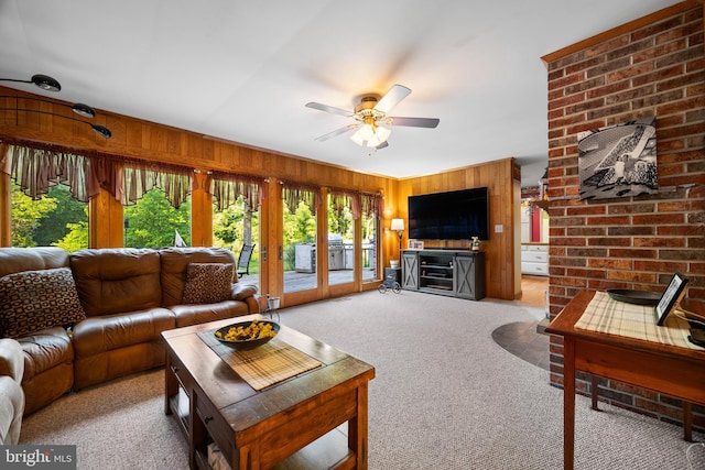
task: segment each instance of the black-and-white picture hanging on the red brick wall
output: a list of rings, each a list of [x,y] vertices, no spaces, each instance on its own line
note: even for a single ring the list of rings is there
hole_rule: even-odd
[[[581,199],[657,194],[655,118],[578,132]]]

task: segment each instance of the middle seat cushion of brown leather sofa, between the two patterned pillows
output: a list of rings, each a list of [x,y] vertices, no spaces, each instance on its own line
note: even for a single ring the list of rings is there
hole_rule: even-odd
[[[149,308],[127,314],[89,317],[74,328],[77,358],[131,345],[150,342],[162,331],[176,327],[174,314],[166,308]]]

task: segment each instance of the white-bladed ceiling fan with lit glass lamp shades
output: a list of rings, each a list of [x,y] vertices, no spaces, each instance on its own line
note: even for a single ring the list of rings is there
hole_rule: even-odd
[[[399,105],[402,99],[406,98],[410,92],[411,89],[402,85],[394,85],[383,97],[379,99],[373,95],[364,96],[360,103],[355,107],[354,111],[321,105],[319,102],[307,102],[307,108],[345,116],[346,118],[354,118],[356,121],[344,128],[323,134],[316,138],[316,140],[327,141],[328,139],[333,139],[337,135],[357,129],[357,132],[350,136],[355,143],[360,146],[366,145],[368,147],[379,150],[389,145],[389,143],[387,143],[387,139],[391,134],[391,131],[382,127],[382,124],[429,129],[433,129],[438,125],[438,122],[441,121],[435,118],[398,118],[387,116],[387,113],[391,111],[394,106]]]

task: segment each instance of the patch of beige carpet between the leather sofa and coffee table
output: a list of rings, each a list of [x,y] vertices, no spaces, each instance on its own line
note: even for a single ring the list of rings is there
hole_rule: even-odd
[[[188,446],[163,396],[163,370],[65,395],[22,422],[20,444],[75,445],[78,469],[187,469]]]

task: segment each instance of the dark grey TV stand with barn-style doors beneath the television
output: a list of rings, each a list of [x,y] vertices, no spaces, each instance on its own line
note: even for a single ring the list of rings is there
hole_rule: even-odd
[[[485,252],[402,250],[402,288],[470,300],[485,298]]]

